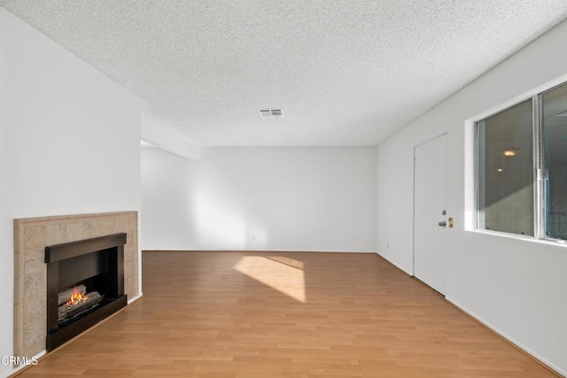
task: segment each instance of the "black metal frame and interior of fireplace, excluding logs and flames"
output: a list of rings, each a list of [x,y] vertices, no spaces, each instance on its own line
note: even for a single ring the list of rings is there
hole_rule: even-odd
[[[66,343],[119,311],[128,303],[124,294],[124,244],[125,233],[105,235],[92,239],[71,243],[63,243],[45,247],[45,263],[47,264],[47,336],[46,350],[51,351]],[[75,261],[89,261],[89,270],[81,279],[89,279],[97,274],[106,274],[112,279],[105,280],[106,297],[103,305],[66,325],[58,324],[58,292],[61,285],[79,281],[73,266]],[[63,269],[59,269],[63,267]],[[80,273],[79,273],[80,274]],[[84,273],[83,273],[84,274]],[[90,275],[89,275],[90,274]],[[60,282],[61,281],[61,282]]]

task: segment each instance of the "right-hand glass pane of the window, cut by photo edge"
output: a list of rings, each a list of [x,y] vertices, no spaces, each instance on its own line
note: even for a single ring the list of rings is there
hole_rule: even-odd
[[[567,239],[567,84],[541,99],[545,236]]]

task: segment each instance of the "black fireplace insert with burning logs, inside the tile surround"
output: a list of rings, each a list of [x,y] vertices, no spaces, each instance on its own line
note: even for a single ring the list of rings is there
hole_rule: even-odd
[[[45,247],[47,351],[127,304],[124,244],[121,233]]]

